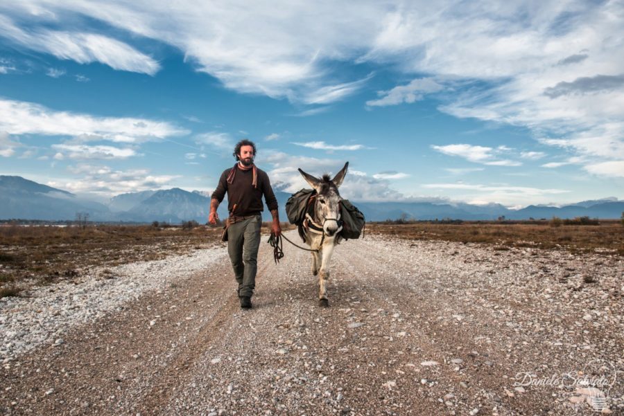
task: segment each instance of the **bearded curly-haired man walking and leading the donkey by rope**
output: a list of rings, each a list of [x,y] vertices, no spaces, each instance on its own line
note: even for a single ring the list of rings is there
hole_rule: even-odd
[[[221,174],[218,186],[210,200],[208,222],[216,224],[219,217],[217,208],[227,192],[227,252],[234,268],[234,277],[239,283],[241,307],[252,307],[251,297],[256,286],[258,248],[260,246],[260,226],[262,195],[266,206],[273,216],[271,230],[275,235],[281,233],[277,215],[277,198],[271,188],[268,175],[254,165],[256,145],[252,141],[242,140],[234,147],[236,165]]]

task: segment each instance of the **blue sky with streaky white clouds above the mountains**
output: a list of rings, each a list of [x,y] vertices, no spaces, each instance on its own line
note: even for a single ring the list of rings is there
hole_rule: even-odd
[[[287,192],[624,197],[621,1],[0,4],[0,174],[211,191],[241,138]]]

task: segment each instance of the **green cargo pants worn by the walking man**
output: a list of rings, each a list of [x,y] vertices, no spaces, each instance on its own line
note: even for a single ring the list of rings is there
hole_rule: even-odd
[[[262,217],[256,215],[227,228],[227,253],[239,284],[239,296],[254,294],[261,225]]]

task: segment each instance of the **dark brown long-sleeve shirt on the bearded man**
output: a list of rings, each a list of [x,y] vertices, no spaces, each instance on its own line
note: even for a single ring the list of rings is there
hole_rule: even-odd
[[[238,165],[236,165],[238,166]],[[253,170],[241,170],[236,168],[236,175],[234,175],[234,181],[227,183],[227,177],[229,172],[234,168],[229,168],[223,171],[219,178],[219,183],[216,190],[212,192],[211,199],[223,201],[225,192],[227,192],[227,210],[232,212],[234,204],[236,204],[236,210],[232,212],[234,215],[254,215],[263,211],[262,195],[264,195],[264,201],[270,211],[277,210],[277,198],[271,188],[271,183],[268,179],[268,174],[263,170],[257,168],[257,188],[254,188],[253,182]]]

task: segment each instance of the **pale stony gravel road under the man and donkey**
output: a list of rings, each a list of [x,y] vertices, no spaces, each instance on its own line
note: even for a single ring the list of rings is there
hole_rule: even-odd
[[[223,246],[4,298],[0,413],[624,413],[620,257],[367,235],[322,308],[264,241],[249,311]]]

